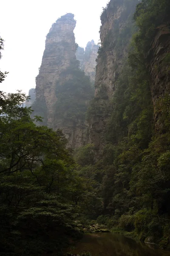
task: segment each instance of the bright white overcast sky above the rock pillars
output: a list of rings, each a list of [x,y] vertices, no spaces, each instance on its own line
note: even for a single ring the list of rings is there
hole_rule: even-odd
[[[77,20],[74,34],[85,47],[92,39],[99,42],[100,14],[108,0],[4,0],[0,3],[0,36],[4,50],[0,70],[9,72],[0,90],[7,93],[35,87],[35,77],[45,49],[45,37],[59,17],[73,13]]]

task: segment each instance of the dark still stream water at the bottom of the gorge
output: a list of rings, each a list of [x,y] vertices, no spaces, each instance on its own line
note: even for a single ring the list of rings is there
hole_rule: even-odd
[[[153,245],[112,233],[85,234],[71,253],[90,252],[92,256],[170,256],[170,252]]]

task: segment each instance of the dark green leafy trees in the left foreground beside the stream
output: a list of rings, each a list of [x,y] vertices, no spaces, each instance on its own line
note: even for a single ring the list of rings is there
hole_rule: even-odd
[[[36,126],[23,93],[0,94],[1,255],[61,253],[79,235],[71,154],[61,131]],[[56,254],[55,254],[56,255]]]

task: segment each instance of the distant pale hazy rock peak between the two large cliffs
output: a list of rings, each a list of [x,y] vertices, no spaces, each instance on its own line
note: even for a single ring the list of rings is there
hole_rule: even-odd
[[[78,47],[76,57],[80,61],[80,68],[89,76],[92,84],[95,82],[96,76],[96,58],[98,56],[99,46],[94,43],[94,40],[88,42],[84,48]]]

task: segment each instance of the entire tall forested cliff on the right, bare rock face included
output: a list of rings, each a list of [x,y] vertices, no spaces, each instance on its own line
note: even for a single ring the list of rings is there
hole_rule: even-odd
[[[142,0],[132,14],[136,2],[111,0],[101,15],[97,93],[88,111],[94,148],[79,149],[77,161],[81,172],[96,182],[97,209],[91,218],[98,216],[98,222],[113,230],[132,232],[142,240],[150,237],[166,247],[170,235],[170,2]],[[117,20],[111,29],[114,15]],[[108,34],[103,36],[107,27]],[[107,66],[111,60],[116,65],[112,70]],[[116,81],[114,75],[110,80],[113,88],[103,79],[111,71],[118,72]]]

